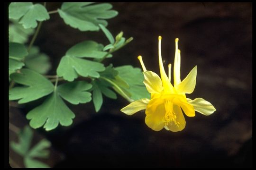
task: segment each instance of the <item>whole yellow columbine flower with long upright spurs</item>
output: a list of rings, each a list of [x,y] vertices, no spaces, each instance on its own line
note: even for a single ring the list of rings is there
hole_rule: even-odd
[[[161,39],[162,37],[159,36],[158,54],[161,78],[153,71],[147,71],[142,57],[138,56],[145,77],[143,83],[151,94],[151,99],[139,99],[130,103],[121,111],[132,115],[139,110],[146,109],[145,122],[148,127],[155,131],[165,127],[166,130],[177,132],[183,130],[186,125],[183,112],[189,117],[195,116],[195,111],[208,116],[216,109],[210,102],[202,98],[191,100],[186,97],[185,94],[192,93],[195,88],[197,71],[195,66],[181,81],[181,51],[178,49],[178,38],[175,39],[174,86],[171,84],[171,64],[168,65],[167,76],[161,55]]]

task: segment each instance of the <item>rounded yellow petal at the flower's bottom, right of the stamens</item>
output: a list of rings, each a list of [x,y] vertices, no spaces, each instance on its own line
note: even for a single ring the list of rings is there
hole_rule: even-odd
[[[173,110],[174,110],[174,113],[176,115],[176,124],[173,122],[173,121],[170,121],[168,124],[167,124],[167,128],[165,127],[166,130],[170,130],[172,132],[178,132],[178,131],[181,131],[185,128],[186,126],[186,121],[185,121],[185,118],[183,116],[183,113],[182,113],[182,110],[180,108],[180,106],[177,106],[177,105],[174,105],[173,106]]]

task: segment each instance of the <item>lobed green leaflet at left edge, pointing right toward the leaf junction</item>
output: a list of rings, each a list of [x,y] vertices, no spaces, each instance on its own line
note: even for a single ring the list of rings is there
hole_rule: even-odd
[[[10,78],[26,86],[12,88],[9,91],[9,100],[20,99],[18,103],[26,103],[53,92],[54,85],[44,76],[27,68],[22,68],[20,72],[11,74]]]

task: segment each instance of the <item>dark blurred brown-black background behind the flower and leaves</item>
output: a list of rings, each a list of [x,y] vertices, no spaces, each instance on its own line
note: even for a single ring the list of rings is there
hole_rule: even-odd
[[[127,116],[119,110],[128,101],[103,98],[96,113],[92,102],[67,105],[75,113],[70,127],[46,132],[34,130],[35,143],[51,143],[51,167],[252,167],[252,4],[251,3],[111,3],[119,12],[108,20],[113,35],[133,37],[105,65],[139,67],[144,57],[148,70],[159,73],[158,35],[163,37],[165,65],[174,62],[174,39],[181,49],[181,78],[197,65],[197,83],[189,98],[204,98],[217,109],[214,114],[186,117],[180,132],[155,132],[145,124],[145,112]],[[47,3],[55,10],[61,3]],[[100,32],[80,32],[64,24],[58,14],[43,22],[35,45],[50,56],[55,70],[74,44],[93,40],[106,45]],[[31,38],[31,37],[30,37]],[[35,103],[34,103],[35,104]],[[35,105],[10,107],[9,121],[19,128]],[[13,131],[9,140],[17,141]],[[22,158],[10,149],[16,166]]]

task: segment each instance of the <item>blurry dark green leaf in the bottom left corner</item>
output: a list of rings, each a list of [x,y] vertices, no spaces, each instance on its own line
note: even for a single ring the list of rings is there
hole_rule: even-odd
[[[35,146],[31,148],[31,140],[33,137],[33,131],[29,126],[18,134],[18,143],[10,142],[12,150],[23,157],[26,168],[49,168],[45,163],[36,160],[35,158],[48,158],[49,150],[46,150],[51,146],[51,143],[42,139]]]

